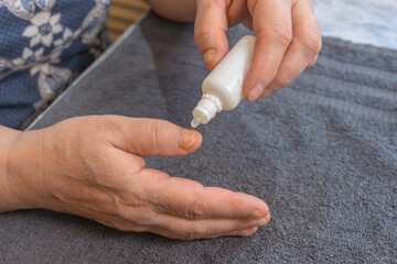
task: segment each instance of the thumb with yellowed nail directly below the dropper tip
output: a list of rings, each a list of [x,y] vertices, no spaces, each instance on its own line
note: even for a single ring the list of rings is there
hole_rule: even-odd
[[[180,156],[196,151],[202,143],[198,132],[164,120],[121,120],[111,143],[126,152],[141,156]]]

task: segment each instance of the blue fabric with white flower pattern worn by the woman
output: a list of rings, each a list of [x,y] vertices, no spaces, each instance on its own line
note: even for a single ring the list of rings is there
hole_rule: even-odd
[[[111,0],[0,0],[0,124],[18,129],[104,50]]]

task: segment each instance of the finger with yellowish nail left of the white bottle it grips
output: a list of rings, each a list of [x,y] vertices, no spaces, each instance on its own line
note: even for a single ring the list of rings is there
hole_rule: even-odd
[[[225,1],[197,1],[194,40],[212,70],[228,52]]]

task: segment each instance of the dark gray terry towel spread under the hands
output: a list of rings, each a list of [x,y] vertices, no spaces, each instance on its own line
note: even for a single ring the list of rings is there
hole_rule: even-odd
[[[249,33],[230,30],[230,44]],[[193,25],[150,14],[33,129],[105,113],[187,127],[207,74]],[[198,130],[196,153],[148,165],[264,199],[272,219],[251,238],[182,242],[23,210],[0,215],[0,261],[397,263],[396,51],[324,38],[289,88]]]

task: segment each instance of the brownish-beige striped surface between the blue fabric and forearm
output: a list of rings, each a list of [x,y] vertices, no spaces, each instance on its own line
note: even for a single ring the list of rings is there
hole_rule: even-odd
[[[111,42],[150,9],[143,0],[115,0],[109,11],[108,30]]]

